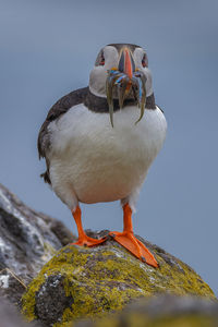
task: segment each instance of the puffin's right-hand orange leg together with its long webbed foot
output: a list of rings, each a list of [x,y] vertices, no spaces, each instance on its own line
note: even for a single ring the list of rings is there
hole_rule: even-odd
[[[142,262],[153,267],[158,267],[158,263],[156,262],[154,255],[133,234],[132,209],[129,204],[123,206],[123,232],[113,231],[110,232],[110,235]]]

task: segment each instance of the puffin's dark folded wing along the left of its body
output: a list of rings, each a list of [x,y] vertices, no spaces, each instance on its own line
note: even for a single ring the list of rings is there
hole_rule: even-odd
[[[63,96],[62,98],[60,98],[51,107],[51,109],[49,110],[49,112],[47,114],[45,122],[43,123],[43,125],[40,128],[40,131],[38,134],[37,146],[38,146],[39,159],[40,158],[46,159],[47,170],[46,170],[46,172],[41,173],[41,175],[40,175],[44,178],[44,181],[46,183],[49,183],[49,184],[51,183],[50,178],[49,178],[49,160],[48,160],[48,157],[46,156],[46,154],[48,153],[50,145],[51,145],[48,125],[50,124],[50,122],[55,121],[60,116],[64,114],[73,106],[83,104],[87,94],[88,94],[88,87],[83,87],[83,88],[73,90],[73,92],[69,93],[68,95]]]

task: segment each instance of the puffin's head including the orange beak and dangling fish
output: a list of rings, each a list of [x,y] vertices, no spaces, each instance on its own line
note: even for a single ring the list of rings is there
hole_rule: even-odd
[[[111,44],[102,48],[89,76],[89,90],[107,97],[112,123],[113,99],[120,108],[125,99],[135,99],[144,113],[146,97],[153,94],[146,51],[135,45]]]

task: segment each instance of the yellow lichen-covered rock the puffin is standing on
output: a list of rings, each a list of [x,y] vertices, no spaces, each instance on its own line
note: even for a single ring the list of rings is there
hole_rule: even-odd
[[[58,327],[81,317],[104,316],[122,310],[133,299],[155,293],[215,299],[192,268],[143,242],[155,254],[159,268],[140,262],[110,238],[93,249],[63,247],[29,284],[23,296],[23,313],[29,320]]]

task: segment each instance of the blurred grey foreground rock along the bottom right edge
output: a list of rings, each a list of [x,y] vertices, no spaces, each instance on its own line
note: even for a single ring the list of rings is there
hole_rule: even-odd
[[[196,296],[158,295],[135,301],[102,320],[81,320],[73,327],[215,327],[218,303]]]

